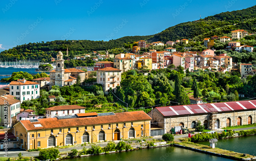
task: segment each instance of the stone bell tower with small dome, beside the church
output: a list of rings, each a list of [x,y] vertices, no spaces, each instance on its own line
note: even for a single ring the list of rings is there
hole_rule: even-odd
[[[55,69],[55,85],[62,87],[64,85],[64,60],[61,51],[57,54],[56,69]]]

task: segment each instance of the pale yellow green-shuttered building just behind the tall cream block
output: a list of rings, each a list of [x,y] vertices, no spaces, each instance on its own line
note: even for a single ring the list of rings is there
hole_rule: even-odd
[[[123,72],[133,69],[133,59],[126,57],[117,57],[114,59],[114,68],[120,69]]]

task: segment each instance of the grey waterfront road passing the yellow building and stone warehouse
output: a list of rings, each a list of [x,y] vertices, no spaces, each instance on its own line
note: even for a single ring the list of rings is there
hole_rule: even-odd
[[[249,129],[256,129],[256,126],[253,126],[253,127],[249,127],[249,128],[239,128],[239,129],[232,129],[232,130],[235,130],[235,131],[240,131],[240,130],[249,130]],[[217,132],[222,132],[223,130],[219,130]],[[188,134],[183,134],[183,135],[175,135],[174,136],[174,139],[178,139],[178,138],[181,138],[181,137],[188,137]],[[162,136],[155,136],[154,138],[151,138],[151,139],[146,139],[147,141],[152,141],[153,139],[162,139]],[[139,139],[138,139],[139,140]],[[116,144],[119,143],[119,140],[117,141],[114,141]],[[125,141],[126,143],[128,143],[128,141]],[[133,142],[135,143],[136,140],[134,141],[130,141],[130,142]],[[101,146],[101,147],[104,147],[108,144],[108,142],[103,142],[103,143],[97,143],[97,145]],[[87,145],[87,146],[77,146],[77,147],[70,147],[70,148],[64,148],[64,149],[59,149],[59,151],[61,153],[63,152],[68,152],[70,151],[71,149],[77,149],[77,150],[81,150],[83,149],[83,147],[86,147],[87,149],[91,147],[91,145]],[[38,156],[39,155],[39,152],[27,152],[27,151],[22,151],[21,149],[9,149],[8,150],[8,157],[17,157],[19,153],[23,153],[23,156],[29,156],[29,157],[32,157],[32,156]],[[3,151],[0,151],[0,157],[2,157],[4,155],[4,152]]]

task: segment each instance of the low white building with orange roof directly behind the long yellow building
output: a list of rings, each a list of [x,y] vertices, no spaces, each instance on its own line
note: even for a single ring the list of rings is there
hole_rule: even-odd
[[[54,106],[46,108],[46,118],[53,118],[56,116],[75,115],[77,113],[84,113],[85,107],[78,105]]]

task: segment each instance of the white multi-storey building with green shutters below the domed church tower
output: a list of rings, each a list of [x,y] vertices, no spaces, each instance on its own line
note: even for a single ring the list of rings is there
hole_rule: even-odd
[[[40,83],[30,82],[26,79],[18,79],[10,83],[10,94],[21,102],[37,99],[40,95]]]

